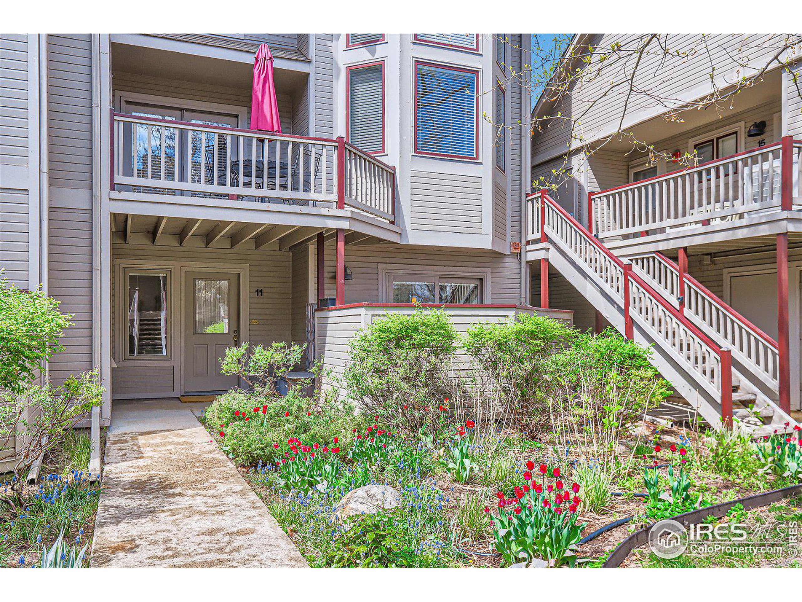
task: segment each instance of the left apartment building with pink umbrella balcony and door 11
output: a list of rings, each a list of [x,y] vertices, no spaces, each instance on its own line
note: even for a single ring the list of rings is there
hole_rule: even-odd
[[[0,266],[73,315],[49,376],[99,367],[103,424],[237,384],[232,345],[314,349],[326,306],[529,300],[529,35],[0,40]],[[249,129],[260,43],[281,134]]]

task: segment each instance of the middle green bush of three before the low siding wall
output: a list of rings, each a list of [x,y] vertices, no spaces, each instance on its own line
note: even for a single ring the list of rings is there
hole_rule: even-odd
[[[518,314],[508,322],[472,324],[465,348],[500,389],[516,421],[532,430],[545,407],[542,380],[547,360],[575,336],[577,331],[558,320]]]

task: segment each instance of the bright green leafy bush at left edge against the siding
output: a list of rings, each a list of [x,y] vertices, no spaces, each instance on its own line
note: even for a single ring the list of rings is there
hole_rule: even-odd
[[[22,393],[39,366],[62,350],[59,337],[70,318],[43,291],[22,291],[0,279],[0,390]]]

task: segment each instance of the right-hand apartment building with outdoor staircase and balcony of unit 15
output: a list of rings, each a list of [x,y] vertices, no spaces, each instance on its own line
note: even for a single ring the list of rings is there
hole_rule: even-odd
[[[575,35],[572,45],[633,39]],[[566,177],[533,194],[525,217],[531,303],[573,310],[577,327],[613,324],[654,345],[658,368],[704,419],[759,413],[759,434],[793,424],[802,385],[802,99],[794,83],[802,62],[798,48],[770,60],[779,39],[711,35],[710,53],[688,59],[699,36],[675,35],[673,57],[642,57],[647,75],[639,77],[652,84],[641,80],[629,96],[591,104],[613,86],[604,71],[556,104],[545,94],[533,116],[581,115],[581,132],[553,120],[534,133],[533,180],[561,169]],[[680,120],[666,120],[665,105],[649,96],[693,103],[711,93],[711,74],[726,90],[755,72],[749,65],[766,67],[753,85]],[[686,154],[698,165],[675,164]]]

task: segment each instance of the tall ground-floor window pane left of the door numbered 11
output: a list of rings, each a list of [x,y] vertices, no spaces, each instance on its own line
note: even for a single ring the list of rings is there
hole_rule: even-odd
[[[128,356],[167,356],[167,273],[128,274]]]

